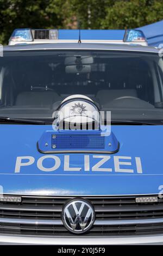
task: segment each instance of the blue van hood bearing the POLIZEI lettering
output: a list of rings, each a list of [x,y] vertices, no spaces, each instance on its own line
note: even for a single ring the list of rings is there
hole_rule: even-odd
[[[163,189],[163,126],[112,126],[120,149],[101,155],[42,154],[37,142],[47,130],[51,126],[0,126],[1,192],[109,196],[159,194]],[[54,155],[58,166],[52,170]]]

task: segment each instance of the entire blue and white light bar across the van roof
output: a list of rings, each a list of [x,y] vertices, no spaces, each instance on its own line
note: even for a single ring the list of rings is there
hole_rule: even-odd
[[[82,42],[103,42],[123,44],[136,42],[147,45],[145,35],[138,29],[81,29],[80,39]],[[9,45],[35,44],[43,42],[78,42],[79,29],[30,29],[18,28],[12,33]]]

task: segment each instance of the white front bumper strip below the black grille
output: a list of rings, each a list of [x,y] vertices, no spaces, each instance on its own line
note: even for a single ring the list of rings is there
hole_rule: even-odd
[[[0,245],[163,245],[163,234],[118,237],[0,235]]]

